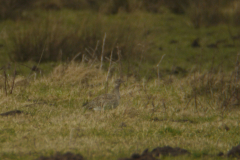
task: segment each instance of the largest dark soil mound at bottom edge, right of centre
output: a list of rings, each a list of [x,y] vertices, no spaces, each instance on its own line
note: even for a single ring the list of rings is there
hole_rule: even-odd
[[[172,148],[169,146],[164,146],[164,147],[157,147],[152,150],[152,152],[148,152],[148,149],[143,151],[143,153],[136,154],[134,153],[131,158],[122,158],[119,160],[157,160],[156,157],[161,156],[179,156],[179,155],[184,155],[184,154],[190,154],[189,151],[181,148]]]

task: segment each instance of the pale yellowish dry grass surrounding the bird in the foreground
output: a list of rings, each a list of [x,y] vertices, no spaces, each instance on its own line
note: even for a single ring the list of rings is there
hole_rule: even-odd
[[[85,111],[83,102],[104,92],[106,76],[97,68],[70,64],[16,86],[7,97],[1,87],[0,112],[25,113],[0,117],[0,158],[33,159],[71,151],[87,159],[117,159],[169,145],[185,148],[200,159],[239,143],[239,107],[223,113],[218,103],[200,95],[198,108],[194,101],[186,107],[193,77],[172,77],[171,83],[130,77],[120,88],[118,108]],[[110,88],[116,78],[109,80]]]

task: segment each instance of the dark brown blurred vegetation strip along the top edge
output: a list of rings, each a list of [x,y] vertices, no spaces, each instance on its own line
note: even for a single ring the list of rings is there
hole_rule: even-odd
[[[137,10],[162,13],[168,8],[175,14],[186,14],[191,21],[200,27],[226,23],[229,16],[239,24],[238,0],[0,0],[0,18],[19,19],[26,12],[42,10],[92,10],[104,14],[135,12]]]

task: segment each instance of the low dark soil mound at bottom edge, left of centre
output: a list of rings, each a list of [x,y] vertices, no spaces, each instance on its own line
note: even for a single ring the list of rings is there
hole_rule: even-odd
[[[56,153],[55,155],[53,155],[51,157],[41,156],[36,160],[84,160],[84,158],[80,154],[74,154],[71,152],[67,152],[65,154]]]

